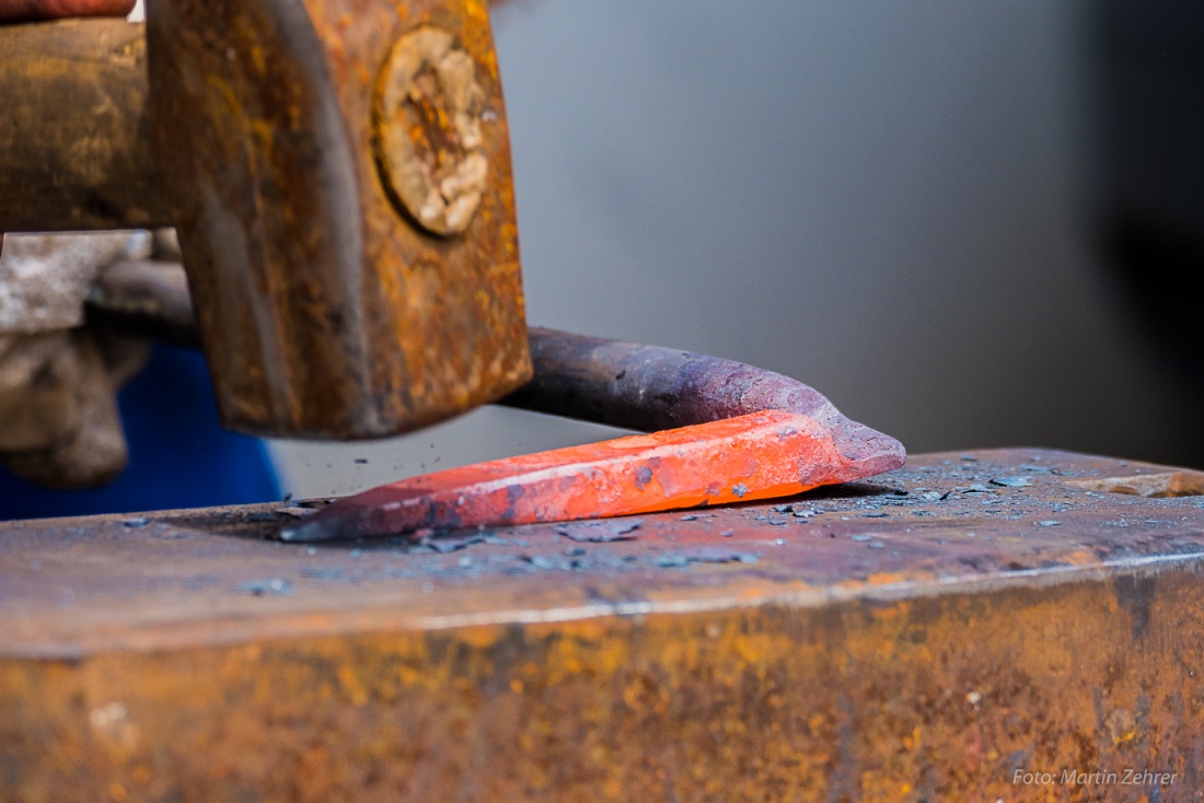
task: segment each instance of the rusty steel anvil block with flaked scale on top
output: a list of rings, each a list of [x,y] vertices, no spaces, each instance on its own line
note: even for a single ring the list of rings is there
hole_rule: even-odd
[[[264,541],[281,506],[7,525],[0,799],[1184,799],[1204,497],[1109,488],[1204,480],[928,455],[418,548]]]

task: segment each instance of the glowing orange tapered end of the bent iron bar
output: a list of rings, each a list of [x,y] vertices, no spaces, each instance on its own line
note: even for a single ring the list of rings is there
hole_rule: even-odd
[[[763,411],[403,479],[342,500],[283,537],[631,515],[787,496],[867,472],[875,473],[810,417]]]

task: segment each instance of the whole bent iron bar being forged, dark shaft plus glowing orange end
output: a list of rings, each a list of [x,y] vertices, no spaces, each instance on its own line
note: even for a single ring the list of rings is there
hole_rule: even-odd
[[[194,341],[178,268],[122,262],[90,317]],[[548,329],[530,332],[535,378],[502,405],[651,435],[521,455],[358,494],[285,541],[405,535],[630,515],[773,498],[898,468],[902,444],[849,420],[813,388],[731,360]]]

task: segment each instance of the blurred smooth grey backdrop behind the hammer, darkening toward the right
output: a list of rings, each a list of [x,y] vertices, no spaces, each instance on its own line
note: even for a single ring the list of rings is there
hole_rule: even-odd
[[[1161,79],[1159,108],[1198,107],[1180,60],[1204,48],[1199,26],[1163,41],[1181,4],[1145,4],[1162,22],[1132,45],[1131,5],[496,7],[529,320],[791,374],[913,453],[1204,465],[1198,296],[1134,301],[1151,246],[1106,236],[1117,209],[1145,220],[1126,205],[1143,193],[1170,197],[1157,220],[1198,206],[1198,184],[1175,196],[1144,169],[1165,148],[1141,105]],[[1163,160],[1171,183],[1199,165],[1182,124],[1163,120],[1191,163]],[[1185,262],[1194,230],[1174,230]],[[486,408],[273,454],[291,492],[318,496],[613,432]]]

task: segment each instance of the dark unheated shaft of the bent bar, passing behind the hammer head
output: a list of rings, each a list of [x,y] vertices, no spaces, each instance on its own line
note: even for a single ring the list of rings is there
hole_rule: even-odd
[[[196,347],[183,268],[118,262],[98,281],[89,320],[130,336]],[[868,472],[903,464],[891,437],[845,418],[797,379],[706,354],[532,327],[535,378],[498,405],[641,432],[704,424],[767,409],[799,413],[833,433],[837,448]]]

